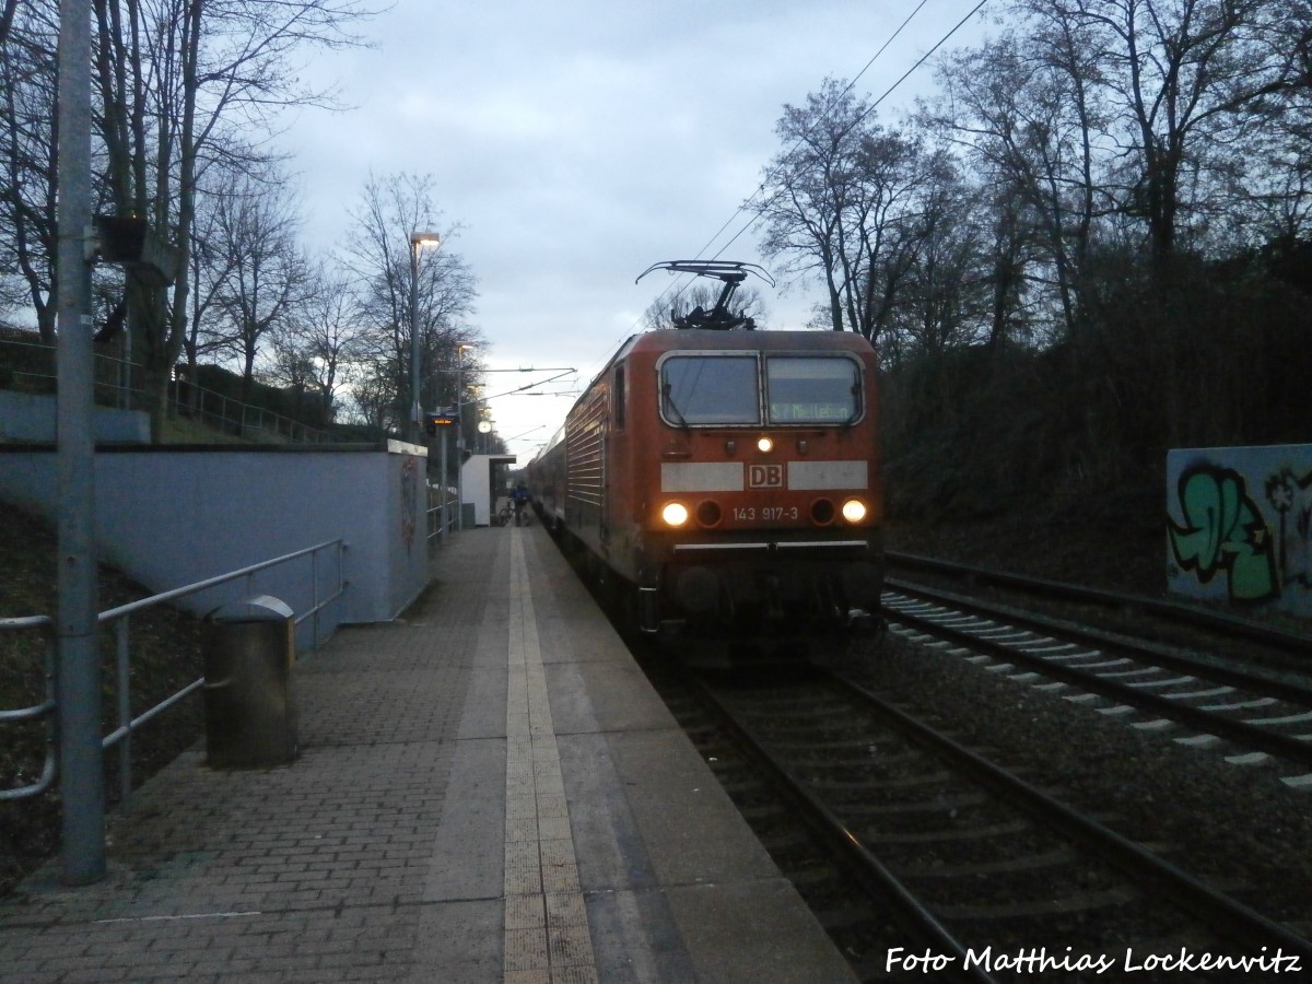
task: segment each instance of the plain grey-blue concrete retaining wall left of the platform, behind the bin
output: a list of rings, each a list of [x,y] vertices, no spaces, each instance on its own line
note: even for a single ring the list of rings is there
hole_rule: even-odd
[[[102,560],[163,592],[342,538],[350,586],[320,628],[382,622],[395,618],[428,580],[424,482],[422,449],[395,441],[325,450],[101,449],[96,539]],[[54,523],[56,489],[52,449],[0,449],[0,500]],[[316,577],[320,597],[331,593],[335,555],[320,558]],[[300,614],[314,597],[310,560],[180,604],[205,613],[252,593],[282,598]]]

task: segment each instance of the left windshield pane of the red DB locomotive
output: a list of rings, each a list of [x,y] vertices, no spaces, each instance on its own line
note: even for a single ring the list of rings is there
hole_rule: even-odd
[[[756,356],[670,356],[660,384],[661,415],[676,426],[761,420]]]

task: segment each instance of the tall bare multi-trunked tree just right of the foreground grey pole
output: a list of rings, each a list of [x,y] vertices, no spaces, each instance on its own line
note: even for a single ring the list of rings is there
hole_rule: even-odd
[[[268,131],[287,105],[320,104],[298,77],[307,49],[357,43],[346,29],[367,16],[356,0],[93,0],[101,135],[108,198],[121,215],[148,220],[190,269],[198,176]],[[172,297],[129,272],[133,352],[144,365],[152,432],[159,436],[167,386],[186,337],[189,281]]]

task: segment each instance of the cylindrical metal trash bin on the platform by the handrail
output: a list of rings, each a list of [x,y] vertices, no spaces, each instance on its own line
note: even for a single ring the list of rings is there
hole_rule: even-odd
[[[206,615],[205,748],[215,769],[286,765],[297,757],[297,622],[268,594]]]

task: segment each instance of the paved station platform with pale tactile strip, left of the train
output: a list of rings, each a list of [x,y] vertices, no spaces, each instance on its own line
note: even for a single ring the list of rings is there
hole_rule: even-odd
[[[0,900],[0,980],[855,980],[541,526],[451,537],[295,693],[293,765],[202,743],[102,882]]]

